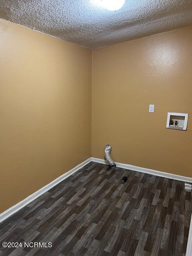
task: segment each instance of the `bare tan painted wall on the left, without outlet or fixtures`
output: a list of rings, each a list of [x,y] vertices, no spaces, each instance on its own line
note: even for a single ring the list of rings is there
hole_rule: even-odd
[[[91,156],[91,50],[0,20],[0,212]]]

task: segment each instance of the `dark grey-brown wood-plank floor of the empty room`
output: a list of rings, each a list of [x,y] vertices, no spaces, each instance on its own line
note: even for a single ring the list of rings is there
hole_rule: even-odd
[[[91,162],[0,224],[0,256],[184,256],[191,198],[183,182]]]

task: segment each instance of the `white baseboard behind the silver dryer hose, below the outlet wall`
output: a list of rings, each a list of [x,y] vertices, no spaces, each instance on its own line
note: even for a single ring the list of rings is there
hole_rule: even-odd
[[[107,164],[107,162],[105,160],[100,159],[100,158],[92,157],[91,160],[93,162],[97,162],[97,163],[100,163],[100,164]],[[192,178],[190,178],[190,177],[181,176],[181,175],[178,175],[178,174],[172,174],[172,173],[168,173],[168,172],[161,172],[161,171],[152,170],[152,169],[148,169],[148,168],[144,168],[144,167],[134,166],[134,165],[131,165],[131,164],[122,164],[122,163],[118,163],[118,162],[115,162],[115,163],[116,163],[117,167],[132,170],[132,171],[135,171],[135,172],[144,172],[144,173],[147,173],[147,174],[152,174],[152,175],[155,175],[155,176],[160,176],[160,177],[164,177],[164,178],[168,178],[168,179],[172,179],[172,180],[180,180],[180,181],[183,181],[183,182],[192,183]]]

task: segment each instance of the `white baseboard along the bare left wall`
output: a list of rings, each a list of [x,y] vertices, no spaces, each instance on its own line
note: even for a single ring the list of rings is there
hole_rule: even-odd
[[[62,180],[68,178],[70,175],[72,175],[75,172],[77,172],[79,169],[81,169],[83,166],[85,166],[89,162],[91,162],[91,157],[88,158],[87,160],[85,160],[84,162],[78,164],[77,166],[75,166],[74,168],[69,170],[68,172],[62,174],[60,177],[56,178],[55,180],[53,180],[52,182],[50,182],[49,184],[47,184],[43,188],[40,188],[39,190],[37,190],[36,192],[31,194],[30,196],[26,197],[24,200],[18,202],[18,204],[15,204],[14,206],[12,206],[9,209],[7,209],[6,211],[2,212],[0,214],[0,222],[6,220],[6,218],[8,218],[11,215],[13,215],[14,213],[18,212],[24,206],[26,206],[30,202],[34,201],[36,198],[38,198],[39,196],[44,194],[46,191],[48,191],[51,188],[53,188],[54,186],[56,186],[58,183],[62,182]]]

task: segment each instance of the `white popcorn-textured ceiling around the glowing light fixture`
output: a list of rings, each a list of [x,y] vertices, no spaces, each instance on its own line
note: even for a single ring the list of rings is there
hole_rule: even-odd
[[[192,0],[0,0],[0,18],[94,49],[192,24]]]

